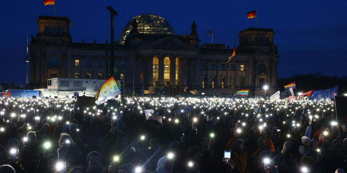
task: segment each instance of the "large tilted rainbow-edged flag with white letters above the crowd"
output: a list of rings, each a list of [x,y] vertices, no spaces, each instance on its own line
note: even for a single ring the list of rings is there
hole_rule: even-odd
[[[113,97],[121,94],[122,91],[119,88],[118,82],[111,76],[104,84],[101,85],[98,93],[94,95],[96,101],[95,104],[102,104]]]

